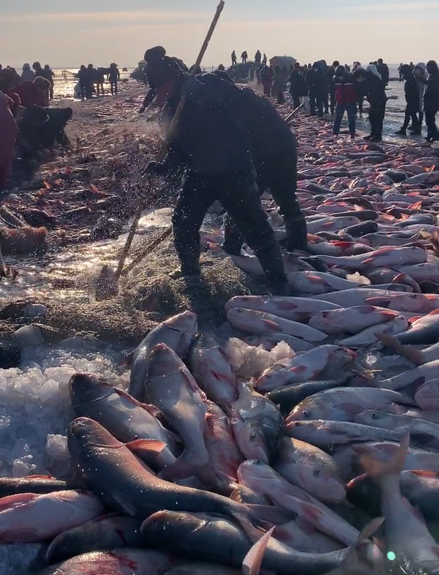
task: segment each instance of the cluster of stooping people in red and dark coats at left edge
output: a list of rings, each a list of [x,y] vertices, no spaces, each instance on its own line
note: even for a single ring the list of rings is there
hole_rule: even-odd
[[[64,131],[73,111],[50,108],[54,73],[35,62],[24,64],[19,75],[12,67],[0,66],[0,193],[16,161],[24,173],[32,170],[44,150],[69,148]]]

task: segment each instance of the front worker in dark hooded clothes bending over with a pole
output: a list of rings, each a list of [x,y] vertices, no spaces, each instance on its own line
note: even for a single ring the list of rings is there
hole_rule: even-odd
[[[163,126],[169,126],[185,95],[185,107],[171,134],[167,159],[147,166],[147,172],[162,175],[167,174],[173,160],[186,168],[172,215],[180,268],[171,277],[200,280],[200,227],[206,212],[218,200],[256,253],[271,288],[289,293],[281,248],[259,198],[250,137],[238,121],[233,103],[215,95],[219,85],[225,90],[238,89],[215,74],[209,75],[215,87],[203,87],[200,80],[190,77],[167,56],[147,62],[147,77],[157,91],[157,103],[164,104]],[[211,94],[217,98],[217,105],[209,101]]]

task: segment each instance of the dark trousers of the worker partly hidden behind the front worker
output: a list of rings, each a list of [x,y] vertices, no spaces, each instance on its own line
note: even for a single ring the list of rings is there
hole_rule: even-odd
[[[259,193],[262,194],[270,188],[287,231],[289,228],[294,228],[296,222],[303,217],[296,198],[297,160],[294,154],[270,158],[257,166],[257,172]],[[228,253],[239,253],[243,243],[243,237],[233,225],[233,217],[230,218],[230,215],[226,214],[224,218],[224,249]]]

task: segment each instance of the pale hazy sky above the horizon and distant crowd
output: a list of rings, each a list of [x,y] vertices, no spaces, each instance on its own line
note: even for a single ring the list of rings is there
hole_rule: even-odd
[[[192,64],[217,0],[0,0],[0,62],[134,67],[163,45]],[[206,66],[230,52],[342,63],[439,60],[439,0],[226,0]]]

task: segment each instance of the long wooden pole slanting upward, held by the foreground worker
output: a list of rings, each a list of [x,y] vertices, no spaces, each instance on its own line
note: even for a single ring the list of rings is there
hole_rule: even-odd
[[[215,27],[217,26],[217,23],[219,21],[219,16],[221,16],[221,12],[223,11],[223,9],[224,9],[224,0],[221,0],[217,6],[217,11],[215,12],[215,16],[213,16],[213,21],[211,23],[211,26],[209,27],[206,38],[204,39],[204,43],[201,47],[200,54],[198,54],[198,58],[195,61],[195,66],[193,67],[193,70],[192,70],[193,75],[195,75],[196,67],[200,66],[202,59],[204,58],[204,54],[206,54],[207,47],[209,46],[209,42],[211,41],[213,32],[215,32]],[[158,156],[157,156],[158,162],[163,161],[163,159],[166,156],[167,145],[174,135],[174,132],[176,130],[176,126],[178,123],[178,119],[180,118],[182,110],[185,107],[185,103],[186,103],[186,98],[183,95],[182,98],[180,99],[180,104],[178,104],[178,108],[176,110],[176,113],[174,114],[174,117],[172,118],[171,124],[169,125],[165,140],[163,141],[161,148],[158,152]],[[148,185],[149,185],[151,182],[151,178],[150,178],[150,176],[147,176],[147,177],[148,177]],[[128,237],[126,239],[125,246],[123,246],[121,257],[120,257],[119,263],[117,265],[117,270],[116,270],[116,274],[115,274],[116,280],[119,279],[119,277],[121,276],[123,266],[125,265],[126,257],[128,256],[128,252],[130,251],[132,240],[134,239],[134,234],[136,233],[137,226],[139,224],[139,220],[141,218],[142,211],[143,211],[144,207],[145,207],[145,203],[141,202],[139,204],[139,207],[137,208],[135,215],[134,215],[134,220],[132,220],[130,232],[128,233]]]

